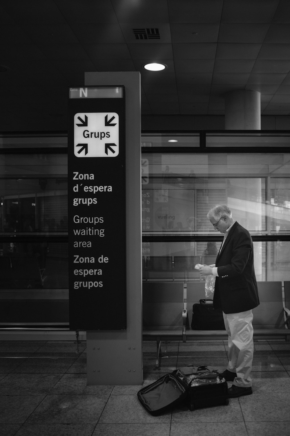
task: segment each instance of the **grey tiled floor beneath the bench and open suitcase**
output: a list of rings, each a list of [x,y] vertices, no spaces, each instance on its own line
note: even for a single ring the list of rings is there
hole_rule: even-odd
[[[144,384],[187,365],[223,370],[223,341],[144,343]],[[229,383],[229,386],[231,384]],[[229,405],[153,417],[137,399],[141,386],[87,386],[86,344],[62,341],[0,342],[1,436],[289,436],[290,343],[259,341],[253,359],[253,395]]]

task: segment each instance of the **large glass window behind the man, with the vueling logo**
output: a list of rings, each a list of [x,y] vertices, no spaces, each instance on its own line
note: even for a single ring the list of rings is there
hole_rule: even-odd
[[[289,154],[143,153],[143,159],[144,280],[185,273],[200,280],[194,266],[213,264],[223,239],[206,216],[217,203],[251,233],[257,280],[290,279]]]

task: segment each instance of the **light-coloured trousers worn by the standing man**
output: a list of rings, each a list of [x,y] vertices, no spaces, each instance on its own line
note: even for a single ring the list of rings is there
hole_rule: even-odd
[[[228,371],[236,372],[233,385],[243,388],[252,386],[251,369],[254,352],[252,310],[239,313],[223,313],[229,336]]]

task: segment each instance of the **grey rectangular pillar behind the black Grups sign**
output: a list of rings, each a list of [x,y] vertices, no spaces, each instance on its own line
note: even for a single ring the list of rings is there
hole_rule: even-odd
[[[85,85],[125,86],[126,151],[126,330],[87,331],[88,385],[141,385],[142,233],[141,233],[141,80],[139,72],[88,72]],[[115,211],[118,226],[118,210]],[[119,253],[121,256],[124,252]],[[114,269],[112,269],[114,274]],[[108,295],[108,317],[115,302]]]

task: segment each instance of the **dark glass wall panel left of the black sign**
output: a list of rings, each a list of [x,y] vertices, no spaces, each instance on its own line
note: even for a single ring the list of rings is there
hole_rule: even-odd
[[[19,148],[0,154],[0,325],[68,326],[67,154]]]

